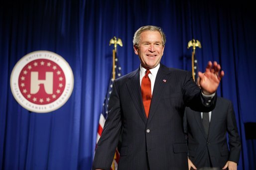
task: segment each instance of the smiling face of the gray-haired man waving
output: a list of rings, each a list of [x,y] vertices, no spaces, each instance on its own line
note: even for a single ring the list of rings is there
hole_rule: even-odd
[[[155,68],[160,63],[164,50],[161,34],[158,31],[142,32],[138,46],[133,46],[133,49],[143,68]]]

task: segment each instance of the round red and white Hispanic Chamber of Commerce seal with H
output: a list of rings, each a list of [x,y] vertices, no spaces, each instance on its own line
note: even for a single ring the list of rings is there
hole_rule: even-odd
[[[34,51],[22,57],[10,76],[10,88],[16,101],[25,109],[48,113],[69,99],[74,76],[69,64],[50,51]]]

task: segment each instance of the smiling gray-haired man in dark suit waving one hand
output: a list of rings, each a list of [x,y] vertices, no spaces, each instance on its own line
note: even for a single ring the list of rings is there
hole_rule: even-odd
[[[211,111],[224,72],[217,62],[209,62],[206,71],[199,73],[200,90],[191,73],[160,64],[165,42],[159,27],[143,26],[135,32],[133,49],[139,56],[140,67],[113,84],[108,118],[97,144],[93,169],[110,169],[120,135],[119,170],[188,169],[183,131],[185,106]],[[150,71],[148,76],[146,70]],[[151,81],[148,117],[141,94],[144,77]]]

